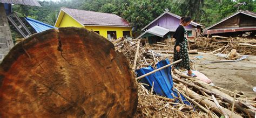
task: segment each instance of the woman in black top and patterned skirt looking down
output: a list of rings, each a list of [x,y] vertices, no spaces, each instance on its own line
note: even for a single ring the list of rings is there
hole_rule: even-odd
[[[190,58],[188,57],[188,51],[187,51],[187,31],[185,30],[184,26],[187,26],[192,21],[192,18],[187,17],[181,17],[180,25],[178,26],[176,32],[173,35],[173,38],[176,39],[176,43],[174,46],[174,61],[177,61],[179,59],[182,59],[182,61],[175,66],[175,68],[179,69],[180,67],[185,68],[188,72],[187,75],[190,77],[197,77],[196,74],[192,73],[190,70]]]

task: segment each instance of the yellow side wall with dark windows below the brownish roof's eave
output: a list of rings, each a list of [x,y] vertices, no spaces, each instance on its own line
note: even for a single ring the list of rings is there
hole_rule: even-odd
[[[117,38],[123,37],[123,31],[130,31],[132,36],[132,27],[114,27],[114,26],[85,26],[87,30],[99,31],[99,34],[107,38],[107,31],[116,31]]]

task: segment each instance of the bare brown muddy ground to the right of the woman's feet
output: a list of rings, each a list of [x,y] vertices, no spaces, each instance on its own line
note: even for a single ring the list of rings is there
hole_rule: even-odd
[[[203,58],[195,59],[197,55]],[[207,53],[190,54],[194,59],[196,70],[204,73],[218,87],[230,91],[242,91],[247,97],[256,97],[253,86],[256,86],[256,56],[250,55],[247,59],[232,63],[202,64],[205,61],[225,60]]]

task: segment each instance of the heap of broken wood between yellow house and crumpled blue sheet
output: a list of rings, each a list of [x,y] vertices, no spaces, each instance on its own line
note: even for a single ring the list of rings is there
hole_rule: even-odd
[[[116,50],[123,52],[125,57],[130,61],[133,70],[137,70],[149,65],[156,65],[160,60],[172,58],[172,54],[161,54],[151,50],[149,45],[142,45],[139,39],[117,39],[112,41]]]

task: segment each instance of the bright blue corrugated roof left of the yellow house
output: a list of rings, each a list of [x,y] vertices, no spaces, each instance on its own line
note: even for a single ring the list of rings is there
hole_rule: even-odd
[[[36,30],[37,33],[43,32],[45,30],[53,29],[53,28],[56,29],[56,27],[54,26],[45,24],[43,22],[39,22],[38,20],[29,18],[29,17],[26,17],[25,19],[26,19],[26,22],[28,22],[33,27],[33,29]]]

